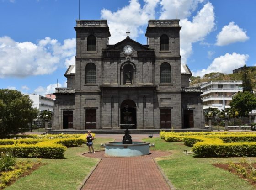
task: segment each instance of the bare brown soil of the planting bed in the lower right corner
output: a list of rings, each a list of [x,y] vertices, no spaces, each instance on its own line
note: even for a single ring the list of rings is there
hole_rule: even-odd
[[[249,164],[247,163],[234,163],[235,165],[239,166],[239,167],[242,167],[246,170],[246,173],[247,175],[243,175],[239,172],[237,172],[237,169],[233,168],[233,167],[230,167],[229,164],[220,164],[220,163],[217,163],[217,164],[213,164],[215,167],[218,167],[218,168],[221,168],[221,169],[224,169],[224,170],[227,170],[229,172],[232,172],[233,174],[239,176],[240,178],[242,179],[245,179],[245,181],[248,181],[249,183],[251,183],[252,185],[254,185],[256,187],[256,180],[252,180],[249,176],[252,172],[251,170],[251,167]],[[256,164],[251,164],[251,166],[253,166],[254,168],[256,168]]]

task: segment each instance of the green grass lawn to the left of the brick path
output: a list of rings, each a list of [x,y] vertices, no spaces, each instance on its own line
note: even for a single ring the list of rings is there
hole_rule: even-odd
[[[94,141],[95,150],[101,150],[101,143],[113,139],[97,138]],[[41,166],[32,174],[17,180],[6,190],[75,190],[85,176],[95,166],[98,159],[85,158],[81,153],[88,151],[87,146],[71,147],[65,152],[65,159],[42,159]],[[26,158],[20,158],[26,159]],[[36,160],[36,159],[29,159]]]

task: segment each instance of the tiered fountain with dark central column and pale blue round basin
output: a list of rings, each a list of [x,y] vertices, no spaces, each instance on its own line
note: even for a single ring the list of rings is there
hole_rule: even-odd
[[[131,157],[131,156],[142,156],[149,154],[149,147],[154,146],[149,142],[133,142],[128,128],[134,124],[128,123],[128,116],[131,112],[128,112],[128,105],[126,105],[126,111],[123,114],[126,116],[126,124],[120,124],[120,126],[126,128],[122,142],[109,142],[101,144],[105,146],[105,154],[109,156],[119,157]]]

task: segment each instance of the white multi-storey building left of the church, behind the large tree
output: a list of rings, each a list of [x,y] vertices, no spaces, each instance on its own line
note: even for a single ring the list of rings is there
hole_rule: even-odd
[[[33,108],[37,108],[40,111],[48,110],[53,112],[54,100],[37,94],[29,95],[33,100]]]

